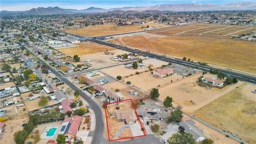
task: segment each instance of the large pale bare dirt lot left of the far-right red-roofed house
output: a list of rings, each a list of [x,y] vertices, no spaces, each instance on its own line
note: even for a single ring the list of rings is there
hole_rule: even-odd
[[[202,73],[198,73],[193,76],[186,77],[181,81],[160,87],[159,100],[163,101],[165,97],[170,96],[173,98],[174,106],[181,105],[183,111],[193,114],[196,110],[236,89],[236,86],[244,84],[244,82],[238,82],[233,85],[225,86],[222,89],[213,87],[211,90],[206,90],[205,87],[201,87],[196,83],[197,79],[201,75]],[[216,76],[206,74],[204,77]]]

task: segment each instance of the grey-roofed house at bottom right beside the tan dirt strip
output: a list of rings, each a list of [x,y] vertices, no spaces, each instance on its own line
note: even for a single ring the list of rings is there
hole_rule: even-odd
[[[200,130],[196,125],[195,122],[191,119],[187,121],[182,121],[179,123],[180,126],[182,126],[185,130],[185,133],[190,133],[193,135],[193,139],[195,139],[197,142],[200,142],[205,139],[205,135],[203,134],[203,131]]]

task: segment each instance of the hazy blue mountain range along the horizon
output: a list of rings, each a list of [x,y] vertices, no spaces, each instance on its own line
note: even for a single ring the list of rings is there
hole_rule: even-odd
[[[256,2],[239,2],[230,3],[224,5],[217,4],[162,4],[154,6],[135,6],[135,7],[121,7],[114,9],[101,9],[98,7],[90,7],[84,10],[76,9],[61,9],[58,6],[55,7],[37,7],[28,11],[1,11],[1,13],[24,13],[30,15],[44,15],[44,14],[73,14],[73,13],[159,13],[162,11],[222,11],[222,10],[256,10]]]

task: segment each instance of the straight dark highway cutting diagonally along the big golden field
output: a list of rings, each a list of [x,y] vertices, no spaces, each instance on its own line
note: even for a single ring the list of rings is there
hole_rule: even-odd
[[[144,56],[147,56],[150,58],[155,58],[155,59],[159,59],[159,60],[171,62],[171,63],[177,63],[178,65],[188,66],[188,67],[203,70],[203,71],[210,71],[210,69],[217,69],[225,75],[230,75],[231,77],[236,77],[237,79],[239,79],[241,81],[256,84],[256,77],[242,74],[242,73],[237,73],[236,71],[213,68],[213,67],[205,66],[205,65],[199,65],[199,63],[180,60],[180,59],[174,59],[174,58],[166,57],[165,55],[151,53],[151,52],[147,52],[147,51],[141,51],[138,49],[131,49],[130,47],[120,46],[120,45],[116,45],[116,44],[112,44],[112,43],[99,41],[98,39],[95,39],[95,38],[90,38],[90,39],[88,39],[88,41],[111,46],[111,47],[114,47],[115,49],[120,49],[120,50],[124,50],[124,51],[128,51],[128,52],[132,52],[132,53],[140,53],[140,54],[143,54]]]

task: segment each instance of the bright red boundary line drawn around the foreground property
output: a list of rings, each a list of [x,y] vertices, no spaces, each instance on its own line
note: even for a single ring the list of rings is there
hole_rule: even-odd
[[[118,102],[123,102],[123,101],[129,101],[129,100],[132,102],[132,99],[126,99],[126,100],[122,100],[122,101],[116,101],[116,102],[106,103],[106,104],[104,105],[105,116],[106,116],[106,121],[107,121],[107,130],[108,130],[108,118],[107,118],[107,110],[106,110],[107,105],[111,105],[111,104],[118,103]],[[140,127],[143,128],[143,133],[144,133],[144,134],[143,134],[143,135],[139,135],[139,136],[135,136],[135,137],[128,137],[128,138],[121,138],[121,139],[110,140],[110,137],[109,137],[109,130],[108,130],[108,141],[132,139],[132,138],[138,138],[138,137],[145,137],[145,136],[146,136],[145,129],[144,129],[144,127],[142,126],[142,124],[141,124],[141,122],[140,122],[140,118],[139,118],[139,116],[138,116],[137,110],[136,110],[135,107],[134,107],[133,102],[132,102],[132,106],[133,106],[133,108],[134,108],[134,110],[135,110],[135,114],[136,114],[136,116],[137,116],[137,118],[138,118],[138,121],[139,121],[139,123],[140,123]]]

